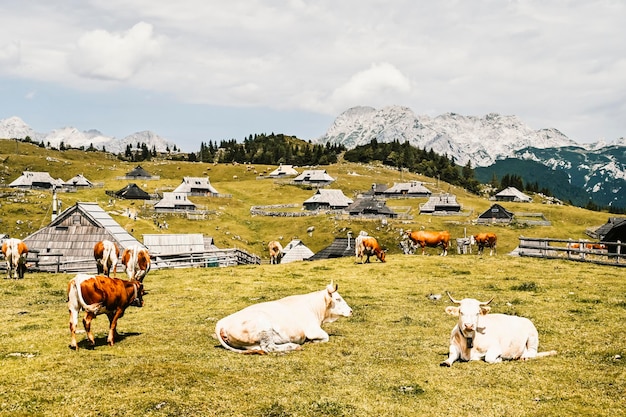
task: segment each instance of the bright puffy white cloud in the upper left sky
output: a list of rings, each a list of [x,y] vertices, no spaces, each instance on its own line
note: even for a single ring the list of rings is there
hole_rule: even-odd
[[[68,61],[82,77],[124,81],[159,54],[152,25],[140,22],[123,33],[98,29],[84,34]]]

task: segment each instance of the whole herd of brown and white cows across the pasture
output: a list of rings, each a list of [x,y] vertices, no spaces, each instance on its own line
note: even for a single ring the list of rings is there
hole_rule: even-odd
[[[448,249],[448,232],[407,232],[407,237],[422,249],[426,246],[441,246],[444,255]],[[495,252],[496,237],[493,233],[478,234],[472,237],[479,246]],[[278,242],[272,242],[278,243]],[[280,244],[275,257],[280,256]],[[23,277],[28,248],[19,239],[9,239],[2,245],[2,252],[10,262],[11,274]],[[369,262],[376,256],[385,262],[385,251],[377,240],[361,232],[355,239],[357,261]],[[83,325],[88,343],[93,347],[95,339],[91,322],[96,316],[106,314],[109,319],[107,343],[113,345],[118,338],[117,321],[130,306],[142,307],[146,294],[143,280],[150,270],[150,255],[140,246],[125,248],[121,263],[126,269],[128,280],[119,279],[117,264],[119,249],[110,241],[98,242],[94,247],[98,274],[78,274],[68,282],[67,303],[70,314],[70,348],[78,350],[76,329],[80,311],[85,311]],[[110,277],[111,271],[113,278]],[[215,337],[227,350],[236,353],[266,354],[298,350],[305,342],[328,342],[329,335],[322,324],[331,323],[341,317],[350,317],[352,308],[337,291],[337,284],[331,283],[321,291],[288,296],[279,300],[252,304],[238,312],[218,320]],[[487,314],[488,304],[466,298],[455,300],[446,307],[446,313],[458,317],[458,322],[450,334],[448,358],[441,366],[451,366],[455,361],[484,360],[498,363],[502,360],[526,360],[555,355],[556,351],[538,352],[539,337],[534,324],[524,317],[505,314]]]

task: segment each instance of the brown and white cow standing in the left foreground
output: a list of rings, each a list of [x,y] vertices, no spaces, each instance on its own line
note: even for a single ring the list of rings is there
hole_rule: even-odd
[[[124,315],[127,307],[143,307],[143,296],[143,284],[139,281],[125,281],[102,275],[76,275],[67,285],[67,305],[70,311],[72,334],[70,348],[78,350],[76,326],[78,326],[78,314],[81,310],[85,310],[83,325],[91,346],[95,345],[91,321],[99,314],[106,314],[109,318],[107,343],[113,346],[115,338],[118,337],[117,320]]]

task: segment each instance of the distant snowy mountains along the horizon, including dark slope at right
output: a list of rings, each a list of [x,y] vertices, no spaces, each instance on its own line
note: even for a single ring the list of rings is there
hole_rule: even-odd
[[[252,133],[252,132],[251,132]],[[73,127],[37,133],[19,117],[0,120],[0,138],[25,138],[51,147],[105,148],[124,152],[128,145],[145,143],[164,152],[177,145],[150,131],[122,139],[97,130]],[[585,206],[626,208],[626,139],[612,143],[579,144],[556,128],[534,130],[517,116],[490,113],[482,117],[445,113],[431,117],[416,115],[408,107],[381,109],[354,107],[341,113],[326,133],[313,142],[342,144],[347,149],[378,142],[408,141],[421,149],[445,154],[459,165],[468,162],[476,178],[489,182],[495,175],[520,176],[524,183],[537,183],[561,200]]]

